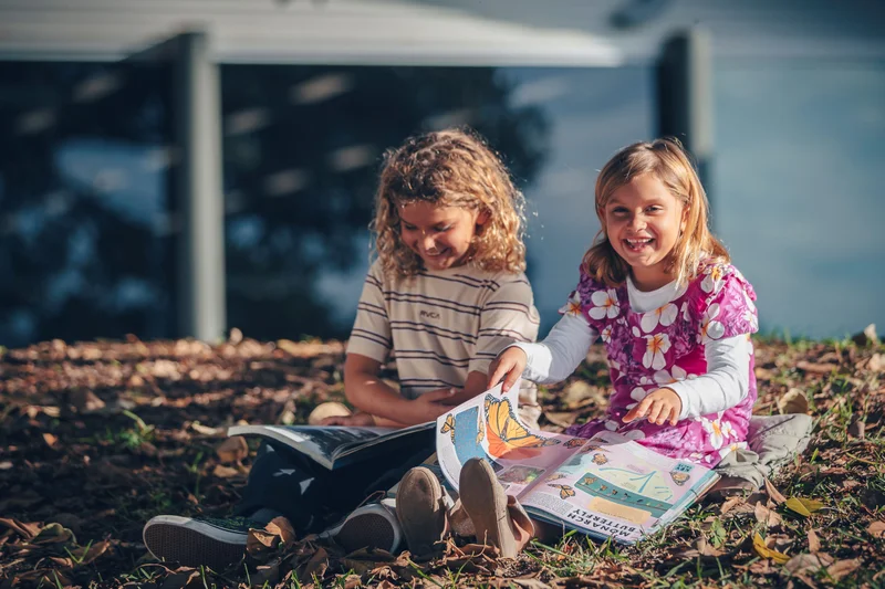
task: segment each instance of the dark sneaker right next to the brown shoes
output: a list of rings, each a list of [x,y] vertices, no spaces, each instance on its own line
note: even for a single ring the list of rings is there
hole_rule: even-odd
[[[320,534],[321,538],[331,538],[353,553],[360,548],[381,548],[391,554],[399,547],[403,532],[396,519],[395,502],[382,499],[357,507],[337,526]]]

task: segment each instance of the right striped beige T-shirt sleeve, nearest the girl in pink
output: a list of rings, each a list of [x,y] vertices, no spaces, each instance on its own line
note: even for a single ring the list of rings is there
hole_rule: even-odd
[[[477,344],[468,372],[487,374],[491,361],[513,341],[534,341],[540,318],[524,274],[507,275],[482,306]]]

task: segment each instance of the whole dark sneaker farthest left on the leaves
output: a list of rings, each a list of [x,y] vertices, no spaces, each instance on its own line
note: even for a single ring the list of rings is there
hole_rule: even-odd
[[[246,554],[249,529],[263,527],[246,517],[158,515],[145,525],[142,536],[147,549],[159,560],[195,568],[204,565],[222,571]]]

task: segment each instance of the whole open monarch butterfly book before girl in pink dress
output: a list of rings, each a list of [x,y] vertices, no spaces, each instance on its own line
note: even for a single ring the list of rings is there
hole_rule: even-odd
[[[542,432],[517,417],[519,382],[458,406],[437,421],[437,455],[455,488],[461,465],[483,457],[508,495],[533,517],[597,538],[633,544],[677,516],[718,478],[624,435]]]

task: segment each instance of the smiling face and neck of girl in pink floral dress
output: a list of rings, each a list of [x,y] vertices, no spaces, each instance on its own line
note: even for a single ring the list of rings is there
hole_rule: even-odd
[[[653,173],[637,176],[612,193],[603,211],[605,233],[631,266],[641,291],[671,282],[669,253],[685,229],[685,207]]]

